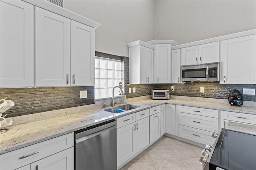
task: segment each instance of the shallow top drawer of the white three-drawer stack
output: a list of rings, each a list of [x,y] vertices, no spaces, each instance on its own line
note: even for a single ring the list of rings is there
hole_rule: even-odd
[[[204,109],[199,107],[179,106],[179,112],[190,113],[194,115],[208,116],[208,117],[219,117],[219,111],[213,109]]]

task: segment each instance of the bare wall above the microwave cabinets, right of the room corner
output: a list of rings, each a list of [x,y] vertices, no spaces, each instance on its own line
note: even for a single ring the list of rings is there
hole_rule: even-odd
[[[157,0],[155,38],[188,43],[256,28],[256,0]]]

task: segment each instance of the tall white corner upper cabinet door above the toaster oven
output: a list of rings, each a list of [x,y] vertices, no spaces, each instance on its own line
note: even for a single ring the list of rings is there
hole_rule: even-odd
[[[156,44],[156,83],[172,83],[171,44]]]

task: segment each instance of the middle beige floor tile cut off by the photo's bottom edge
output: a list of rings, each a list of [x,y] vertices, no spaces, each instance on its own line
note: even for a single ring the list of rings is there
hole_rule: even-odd
[[[183,170],[176,159],[153,160],[156,170]]]

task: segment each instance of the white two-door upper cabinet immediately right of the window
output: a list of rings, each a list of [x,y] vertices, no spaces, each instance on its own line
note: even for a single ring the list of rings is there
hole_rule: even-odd
[[[140,40],[127,45],[130,58],[130,83],[153,83],[154,46]]]

